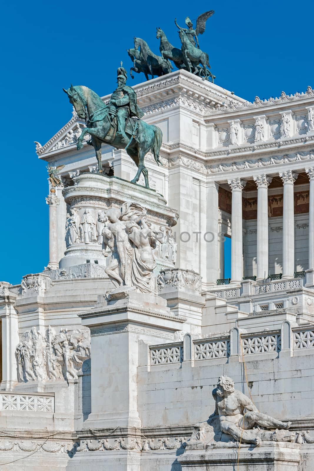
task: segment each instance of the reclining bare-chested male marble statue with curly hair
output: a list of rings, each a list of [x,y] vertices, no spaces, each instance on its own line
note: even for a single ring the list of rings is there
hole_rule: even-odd
[[[284,423],[258,412],[250,398],[234,389],[234,381],[228,376],[220,376],[217,388],[212,392],[216,401],[214,415],[219,415],[220,429],[242,443],[260,444],[260,437],[254,436],[253,428],[288,430],[291,423]],[[252,433],[253,431],[253,433]]]

